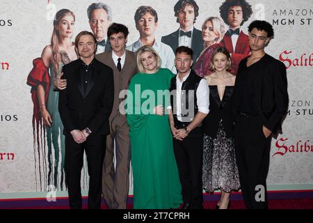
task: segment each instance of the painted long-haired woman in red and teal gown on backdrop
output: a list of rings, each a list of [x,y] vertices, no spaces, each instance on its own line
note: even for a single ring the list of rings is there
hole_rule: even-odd
[[[63,135],[63,124],[61,122],[60,114],[58,113],[58,90],[65,89],[66,80],[61,79],[63,65],[76,60],[77,52],[74,49],[72,36],[74,33],[75,15],[68,9],[61,9],[54,17],[54,29],[51,36],[51,45],[47,45],[43,50],[41,57],[33,61],[33,70],[31,70],[27,78],[27,84],[32,89],[32,99],[34,104],[33,114],[33,128],[34,138],[40,144],[38,138],[39,126],[42,123],[45,125],[47,131],[47,146],[48,146],[48,164],[49,169],[47,176],[45,168],[38,164],[40,190],[47,185],[54,185],[56,189],[65,189],[64,184],[64,157],[65,157],[65,138]],[[35,132],[37,130],[38,132]],[[59,144],[59,139],[61,144]],[[45,144],[38,146],[42,148]],[[44,160],[45,152],[39,152],[37,160]],[[52,158],[54,155],[54,159]],[[54,162],[53,162],[54,160]],[[61,161],[61,178],[58,176],[59,162]],[[43,175],[42,175],[43,174]],[[46,183],[43,181],[47,180]],[[36,180],[38,180],[36,176]],[[43,186],[43,187],[42,187]]]

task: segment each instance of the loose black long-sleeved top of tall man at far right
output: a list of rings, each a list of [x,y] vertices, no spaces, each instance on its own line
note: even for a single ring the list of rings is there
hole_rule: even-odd
[[[236,119],[240,112],[242,100],[243,77],[241,69],[246,66],[247,59],[239,63],[234,88],[234,112]],[[284,63],[265,54],[262,59],[250,66],[252,85],[252,102],[257,107],[257,112],[262,116],[263,124],[274,134],[281,130],[282,117],[287,113],[289,96],[287,91],[287,74]]]

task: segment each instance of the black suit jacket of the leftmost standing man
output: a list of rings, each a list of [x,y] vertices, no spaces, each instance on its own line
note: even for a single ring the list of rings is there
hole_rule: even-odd
[[[63,66],[67,88],[60,91],[58,111],[64,125],[64,134],[89,128],[90,137],[109,134],[109,116],[113,107],[113,70],[95,59],[86,94],[76,60]]]

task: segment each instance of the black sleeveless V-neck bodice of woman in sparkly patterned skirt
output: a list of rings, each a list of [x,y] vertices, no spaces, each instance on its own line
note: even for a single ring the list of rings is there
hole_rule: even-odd
[[[225,86],[225,92],[222,100],[218,95],[217,85],[209,85],[209,114],[204,118],[203,133],[211,137],[216,137],[218,123],[223,119],[226,136],[232,137],[234,130],[234,118],[232,113],[232,95],[234,86]]]

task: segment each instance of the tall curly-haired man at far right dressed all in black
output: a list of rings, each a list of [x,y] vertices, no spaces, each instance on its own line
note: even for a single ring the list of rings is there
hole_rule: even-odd
[[[264,52],[273,27],[256,20],[248,26],[251,55],[239,63],[234,89],[234,139],[246,208],[267,208],[271,135],[281,130],[288,109],[284,63]]]

